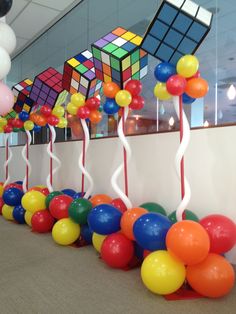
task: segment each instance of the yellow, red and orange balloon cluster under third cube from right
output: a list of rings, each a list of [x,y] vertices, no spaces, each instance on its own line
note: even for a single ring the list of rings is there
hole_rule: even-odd
[[[75,93],[71,96],[66,109],[72,116],[77,116],[79,119],[89,119],[92,123],[98,124],[102,120],[99,107],[99,98],[91,97],[85,100],[81,93]]]

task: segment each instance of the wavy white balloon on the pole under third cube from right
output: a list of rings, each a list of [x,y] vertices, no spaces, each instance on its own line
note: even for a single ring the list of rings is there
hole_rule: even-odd
[[[89,129],[88,129],[88,125],[87,125],[85,119],[80,119],[80,121],[81,121],[81,125],[82,125],[83,131],[84,131],[85,154],[86,154],[88,147],[89,147],[89,143],[90,143]],[[83,166],[83,152],[79,156],[79,162],[78,163],[79,163],[80,170],[82,171],[84,176],[89,181],[89,187],[87,189],[87,192],[84,195],[84,198],[89,198],[89,196],[92,194],[92,191],[93,191],[94,182],[93,182],[93,178],[91,177],[91,175],[88,173],[86,168]]]

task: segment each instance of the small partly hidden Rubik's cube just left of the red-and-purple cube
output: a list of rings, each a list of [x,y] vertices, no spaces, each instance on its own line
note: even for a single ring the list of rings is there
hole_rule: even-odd
[[[13,94],[15,96],[14,111],[20,113],[26,111],[30,113],[34,101],[29,98],[30,90],[33,82],[30,79],[25,79],[12,87]]]

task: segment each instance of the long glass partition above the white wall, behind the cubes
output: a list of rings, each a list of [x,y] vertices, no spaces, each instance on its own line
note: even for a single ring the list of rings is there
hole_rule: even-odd
[[[213,13],[212,29],[196,56],[200,61],[201,75],[209,83],[209,93],[204,99],[185,105],[190,125],[194,127],[221,126],[236,122],[235,99],[228,90],[236,83],[235,59],[235,13],[234,0],[196,0],[199,5]],[[123,26],[143,36],[154,17],[159,0],[84,0],[53,27],[40,36],[33,44],[16,56],[8,76],[12,86],[25,78],[31,80],[47,67],[62,73],[66,59],[84,49],[91,50],[91,44],[117,26]],[[153,71],[158,60],[149,56],[148,75],[142,80],[145,107],[134,111],[126,123],[126,133],[148,134],[178,130],[178,119],[173,103],[159,102],[153,95],[156,84]],[[103,98],[102,98],[103,101]],[[200,120],[195,110],[201,108]],[[199,114],[199,112],[198,112]],[[91,137],[116,136],[118,115],[104,115],[99,125],[91,125]],[[75,117],[68,116],[66,130],[57,130],[57,141],[81,139],[82,129]],[[23,144],[24,135],[12,136],[12,144]],[[34,135],[35,143],[46,143],[48,130]]]

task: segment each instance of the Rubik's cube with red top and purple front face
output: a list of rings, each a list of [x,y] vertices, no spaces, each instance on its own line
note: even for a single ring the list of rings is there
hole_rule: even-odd
[[[36,103],[33,112],[42,105],[53,108],[66,101],[68,92],[62,87],[62,74],[54,68],[48,68],[35,77],[29,97]]]

